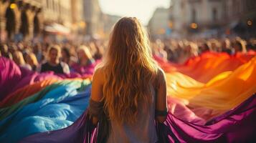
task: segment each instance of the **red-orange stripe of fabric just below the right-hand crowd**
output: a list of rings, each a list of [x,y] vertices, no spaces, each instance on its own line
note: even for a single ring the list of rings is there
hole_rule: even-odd
[[[158,61],[166,73],[176,71],[196,81],[207,83],[210,79],[224,71],[234,71],[234,69],[250,61],[254,56],[256,56],[255,52],[248,54],[238,53],[234,56],[229,56],[226,53],[207,52],[201,56],[195,56],[189,59],[183,65],[166,63],[166,61],[162,61],[157,57],[156,61]]]

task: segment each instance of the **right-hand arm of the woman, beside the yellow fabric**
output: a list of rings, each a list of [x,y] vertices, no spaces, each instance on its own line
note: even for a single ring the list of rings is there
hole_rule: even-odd
[[[159,69],[156,78],[156,120],[163,123],[167,117],[166,77],[164,71]]]

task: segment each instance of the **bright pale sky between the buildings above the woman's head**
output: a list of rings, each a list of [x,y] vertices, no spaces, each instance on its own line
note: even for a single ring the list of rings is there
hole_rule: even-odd
[[[99,0],[105,14],[133,16],[146,25],[157,7],[168,8],[171,0]]]

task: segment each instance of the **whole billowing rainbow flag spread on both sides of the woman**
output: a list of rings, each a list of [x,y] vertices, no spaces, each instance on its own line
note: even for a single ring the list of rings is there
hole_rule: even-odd
[[[167,142],[256,141],[256,56],[205,53],[166,72]],[[87,122],[92,74],[55,75],[0,58],[0,142],[95,142]],[[139,124],[138,124],[139,127]]]

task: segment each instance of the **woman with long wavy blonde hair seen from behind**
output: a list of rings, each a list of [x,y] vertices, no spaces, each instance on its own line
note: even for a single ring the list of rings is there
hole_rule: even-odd
[[[166,119],[166,79],[148,43],[138,19],[120,19],[95,70],[89,113],[93,124],[107,117],[106,142],[158,142],[155,121]]]

